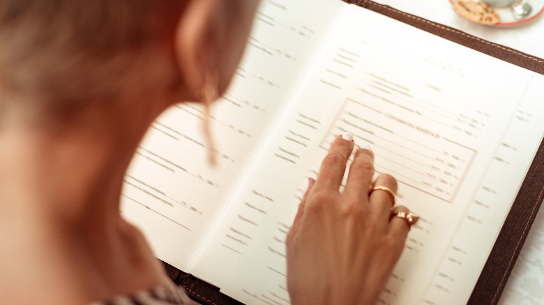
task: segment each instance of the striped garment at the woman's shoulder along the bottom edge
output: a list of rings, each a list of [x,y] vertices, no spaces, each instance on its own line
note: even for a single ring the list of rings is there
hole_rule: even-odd
[[[133,295],[113,297],[89,305],[193,305],[198,304],[187,296],[181,287],[156,287],[137,292]]]

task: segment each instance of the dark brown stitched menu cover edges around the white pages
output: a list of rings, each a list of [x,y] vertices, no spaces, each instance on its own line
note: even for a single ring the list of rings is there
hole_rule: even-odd
[[[345,0],[345,2],[354,3],[376,13],[397,19],[409,26],[414,26],[433,35],[475,49],[478,52],[544,75],[544,59],[542,58],[471,36],[443,24],[431,22],[428,19],[410,15],[370,0]],[[497,241],[471,294],[469,304],[497,304],[543,200],[544,141],[536,153],[511,211],[501,228]],[[184,286],[188,295],[202,304],[241,304],[226,295],[222,295],[218,288],[200,281],[190,274],[180,272],[166,263],[165,268],[175,283]]]

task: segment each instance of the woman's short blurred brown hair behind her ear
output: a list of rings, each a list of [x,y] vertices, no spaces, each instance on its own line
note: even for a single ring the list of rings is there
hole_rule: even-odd
[[[11,100],[6,95],[44,109],[79,109],[136,86],[130,79],[156,60],[146,51],[167,49],[185,3],[1,0],[0,109]]]

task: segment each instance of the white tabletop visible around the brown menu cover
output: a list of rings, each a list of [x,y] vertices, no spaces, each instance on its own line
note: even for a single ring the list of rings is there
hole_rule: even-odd
[[[462,19],[448,0],[374,1],[544,58],[544,14],[528,24],[499,29]],[[544,208],[536,216],[499,304],[544,304]]]

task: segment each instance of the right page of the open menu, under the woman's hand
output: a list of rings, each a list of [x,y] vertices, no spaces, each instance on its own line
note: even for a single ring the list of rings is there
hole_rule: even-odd
[[[352,132],[421,214],[383,304],[467,301],[543,139],[544,77],[352,6],[229,203],[222,292],[288,304],[285,235],[333,136]]]

